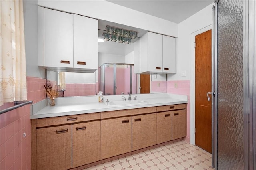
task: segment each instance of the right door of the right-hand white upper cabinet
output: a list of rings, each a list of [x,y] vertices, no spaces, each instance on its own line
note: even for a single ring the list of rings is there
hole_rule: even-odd
[[[163,36],[163,72],[176,73],[176,43],[169,36]]]

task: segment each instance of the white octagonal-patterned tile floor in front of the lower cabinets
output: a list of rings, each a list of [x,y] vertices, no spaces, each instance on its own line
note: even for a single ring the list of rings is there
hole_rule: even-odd
[[[211,165],[212,154],[178,141],[84,170],[213,170]]]

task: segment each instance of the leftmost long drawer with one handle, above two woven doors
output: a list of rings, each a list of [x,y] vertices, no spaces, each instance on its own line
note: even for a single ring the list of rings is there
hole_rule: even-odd
[[[62,125],[67,123],[92,121],[97,119],[100,119],[100,113],[87,113],[87,114],[81,114],[81,115],[41,118],[41,119],[36,119],[36,127]]]

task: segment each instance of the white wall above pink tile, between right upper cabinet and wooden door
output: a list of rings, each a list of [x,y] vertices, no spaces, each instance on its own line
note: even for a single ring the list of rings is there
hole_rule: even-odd
[[[213,5],[214,3],[178,24],[178,70],[176,74],[168,74],[167,80],[190,80],[190,35],[212,24]],[[183,71],[186,72],[185,77],[181,77]]]

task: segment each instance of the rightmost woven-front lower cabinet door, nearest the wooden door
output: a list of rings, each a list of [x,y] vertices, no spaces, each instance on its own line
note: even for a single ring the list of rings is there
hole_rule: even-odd
[[[172,111],[172,140],[187,136],[186,109]]]

